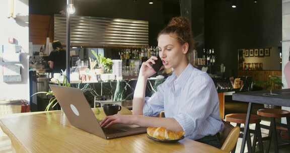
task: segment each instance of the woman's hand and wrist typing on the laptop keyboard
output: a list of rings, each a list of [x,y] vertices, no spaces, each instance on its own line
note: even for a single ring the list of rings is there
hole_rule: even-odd
[[[101,127],[109,127],[112,124],[121,123],[121,124],[134,124],[134,115],[120,115],[115,114],[107,116],[101,123]]]

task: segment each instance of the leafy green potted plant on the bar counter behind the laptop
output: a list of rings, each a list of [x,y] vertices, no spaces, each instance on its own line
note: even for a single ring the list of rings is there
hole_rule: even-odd
[[[91,50],[93,55],[96,57],[97,60],[97,69],[103,69],[103,73],[112,73],[112,65],[113,61],[111,58],[106,58],[101,54],[97,54],[94,50]]]

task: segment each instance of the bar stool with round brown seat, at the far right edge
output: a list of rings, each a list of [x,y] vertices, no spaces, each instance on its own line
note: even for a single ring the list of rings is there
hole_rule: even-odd
[[[270,129],[269,129],[268,137],[263,137],[263,139],[269,138],[269,145],[266,148],[266,152],[269,152],[272,135],[273,135],[273,140],[274,140],[274,150],[275,150],[275,152],[278,152],[279,150],[278,150],[278,143],[277,143],[276,120],[275,120],[275,118],[286,117],[288,135],[290,137],[290,112],[286,111],[286,110],[281,110],[281,109],[267,108],[267,109],[259,109],[257,111],[257,114],[259,116],[262,116],[262,117],[271,118],[271,123],[270,123]],[[265,139],[265,140],[267,140],[267,139]]]

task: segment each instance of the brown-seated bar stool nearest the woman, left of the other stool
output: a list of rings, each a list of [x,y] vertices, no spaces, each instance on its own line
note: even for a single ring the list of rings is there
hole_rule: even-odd
[[[226,121],[237,123],[237,126],[241,127],[241,124],[245,125],[245,123],[246,123],[246,116],[247,116],[247,114],[244,114],[244,113],[228,114],[228,115],[226,115]],[[255,130],[248,129],[248,132],[247,132],[248,134],[246,135],[246,141],[247,141],[247,146],[248,146],[249,152],[255,152],[257,139],[258,139],[260,151],[264,152],[260,122],[261,122],[261,118],[258,115],[251,114],[249,123],[256,124],[256,127],[255,127]],[[241,129],[241,131],[243,131],[243,130]],[[251,144],[250,133],[254,133],[253,146]],[[240,134],[239,137],[243,137],[243,134]],[[236,146],[233,149],[233,152],[235,152],[235,150],[236,150]]]

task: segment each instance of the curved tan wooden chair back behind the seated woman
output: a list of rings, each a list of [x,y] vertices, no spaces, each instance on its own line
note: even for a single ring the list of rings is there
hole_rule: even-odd
[[[223,144],[221,149],[226,152],[231,152],[237,144],[240,127],[234,127],[230,123],[224,121],[225,127],[223,131],[220,132],[220,141]]]

